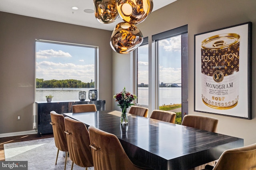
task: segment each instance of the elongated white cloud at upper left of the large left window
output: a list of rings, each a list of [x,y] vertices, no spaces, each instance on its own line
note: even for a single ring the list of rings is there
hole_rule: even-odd
[[[48,59],[50,57],[72,57],[70,53],[66,53],[64,51],[54,51],[53,49],[50,50],[40,50],[36,52],[36,58],[38,59]]]

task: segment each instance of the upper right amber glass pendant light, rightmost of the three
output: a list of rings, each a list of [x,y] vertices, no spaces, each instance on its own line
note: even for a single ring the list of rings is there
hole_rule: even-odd
[[[122,20],[138,24],[152,12],[153,0],[116,0],[116,8]]]

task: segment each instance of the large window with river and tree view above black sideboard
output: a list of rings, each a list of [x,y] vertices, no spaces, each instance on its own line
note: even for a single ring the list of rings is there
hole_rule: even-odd
[[[97,89],[97,47],[36,40],[36,102],[79,100]],[[88,98],[86,98],[88,99]]]

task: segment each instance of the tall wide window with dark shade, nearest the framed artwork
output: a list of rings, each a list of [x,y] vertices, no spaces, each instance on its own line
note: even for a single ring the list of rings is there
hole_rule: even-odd
[[[188,113],[187,25],[152,36],[158,71],[158,107],[177,113],[176,123]],[[178,122],[177,122],[178,121]]]

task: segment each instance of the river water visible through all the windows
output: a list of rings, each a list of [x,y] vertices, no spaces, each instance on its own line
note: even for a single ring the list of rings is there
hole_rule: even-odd
[[[46,102],[46,97],[49,94],[54,96],[52,101],[70,101],[79,100],[78,93],[86,92],[88,99],[88,91],[93,88],[37,88],[36,102]],[[114,94],[113,94],[114,96]],[[148,105],[148,88],[138,88],[138,103]],[[159,106],[169,104],[181,104],[181,87],[163,87],[159,89]],[[101,99],[104,100],[104,99]]]

